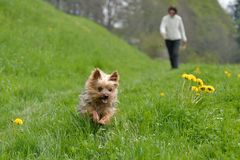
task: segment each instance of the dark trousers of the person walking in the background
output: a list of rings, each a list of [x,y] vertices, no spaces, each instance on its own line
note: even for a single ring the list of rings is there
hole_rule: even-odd
[[[180,40],[165,40],[171,66],[173,69],[178,68],[178,52],[180,47]]]

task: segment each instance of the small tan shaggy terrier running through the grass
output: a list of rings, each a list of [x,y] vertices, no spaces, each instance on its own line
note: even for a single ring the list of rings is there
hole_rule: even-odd
[[[85,85],[85,91],[80,95],[78,111],[88,115],[99,124],[109,123],[116,111],[119,74],[108,75],[100,69],[95,69]]]

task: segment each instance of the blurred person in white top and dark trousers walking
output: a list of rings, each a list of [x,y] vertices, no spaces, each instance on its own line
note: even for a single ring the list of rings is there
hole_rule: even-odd
[[[162,18],[160,33],[165,40],[172,69],[178,68],[178,53],[183,41],[183,48],[186,48],[187,37],[182,18],[177,14],[176,7],[168,8],[168,15]]]

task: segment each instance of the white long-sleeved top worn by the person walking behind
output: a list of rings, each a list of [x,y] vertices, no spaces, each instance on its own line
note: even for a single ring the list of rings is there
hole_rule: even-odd
[[[187,42],[182,18],[179,15],[166,15],[162,18],[160,33],[165,40],[180,40]]]

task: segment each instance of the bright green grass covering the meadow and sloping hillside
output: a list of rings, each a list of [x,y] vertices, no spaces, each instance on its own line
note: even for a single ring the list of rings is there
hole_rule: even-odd
[[[216,92],[195,104],[181,78],[195,64],[171,71],[41,1],[1,0],[0,22],[0,159],[240,159],[239,65],[198,64]],[[76,112],[94,67],[121,75],[109,126]]]

